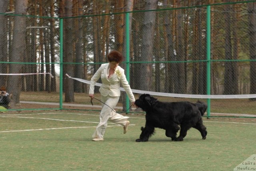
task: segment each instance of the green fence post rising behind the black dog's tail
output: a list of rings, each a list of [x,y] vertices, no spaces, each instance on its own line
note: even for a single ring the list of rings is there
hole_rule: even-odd
[[[206,93],[207,95],[211,94],[211,6],[207,6],[207,12],[206,12],[206,58],[207,58],[207,78],[206,78]],[[210,116],[211,111],[211,99],[207,99],[207,116]]]

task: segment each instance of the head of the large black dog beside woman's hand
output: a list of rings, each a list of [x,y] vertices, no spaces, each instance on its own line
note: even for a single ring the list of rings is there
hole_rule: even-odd
[[[142,94],[139,99],[135,100],[135,105],[142,108],[142,110],[147,111],[156,101],[157,98],[150,96],[150,94]]]

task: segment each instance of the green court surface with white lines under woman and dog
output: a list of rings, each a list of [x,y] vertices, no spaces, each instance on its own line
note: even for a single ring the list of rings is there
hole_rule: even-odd
[[[256,153],[255,118],[204,118],[208,135],[190,129],[172,142],[156,129],[135,142],[143,114],[131,115],[127,134],[108,124],[104,141],[93,142],[98,112],[44,111],[0,114],[1,171],[233,171]]]

